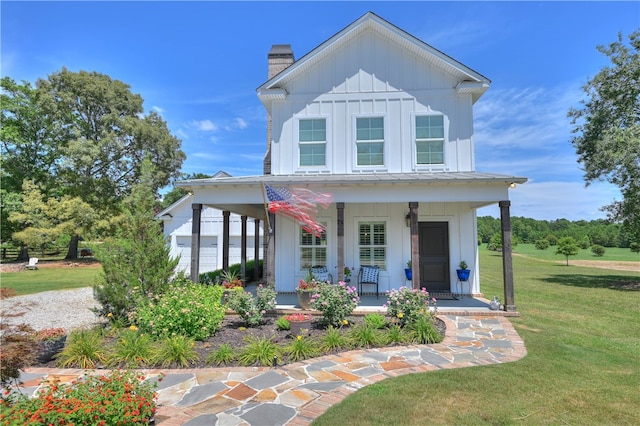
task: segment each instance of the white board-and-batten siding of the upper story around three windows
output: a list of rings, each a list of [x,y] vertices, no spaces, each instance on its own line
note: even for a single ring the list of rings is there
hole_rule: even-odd
[[[409,173],[473,171],[473,117],[469,94],[456,93],[453,76],[374,34],[359,37],[299,78],[288,81],[286,100],[274,102],[273,174]],[[445,117],[445,164],[415,165],[415,114]],[[385,164],[355,166],[355,119],[385,120]],[[299,167],[298,120],[324,118],[327,164]]]

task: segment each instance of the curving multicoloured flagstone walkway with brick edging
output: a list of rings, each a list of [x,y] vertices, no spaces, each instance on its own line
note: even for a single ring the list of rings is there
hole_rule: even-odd
[[[158,383],[156,424],[161,426],[308,425],[358,389],[403,374],[499,364],[526,349],[505,317],[440,315],[444,341],[326,355],[281,367],[144,370]],[[99,373],[99,372],[97,372]],[[29,368],[23,392],[45,378],[70,382],[83,370]]]

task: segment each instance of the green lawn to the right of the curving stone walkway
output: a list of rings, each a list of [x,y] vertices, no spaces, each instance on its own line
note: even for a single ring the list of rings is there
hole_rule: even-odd
[[[502,295],[481,250],[482,290]],[[367,386],[313,424],[640,424],[640,274],[514,257],[520,361],[410,374]]]

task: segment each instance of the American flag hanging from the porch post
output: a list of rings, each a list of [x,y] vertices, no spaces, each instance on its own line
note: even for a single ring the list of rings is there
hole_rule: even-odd
[[[287,216],[298,222],[302,228],[320,237],[326,228],[316,220],[318,206],[327,208],[332,202],[329,194],[321,194],[306,188],[287,188],[264,185],[269,211]]]

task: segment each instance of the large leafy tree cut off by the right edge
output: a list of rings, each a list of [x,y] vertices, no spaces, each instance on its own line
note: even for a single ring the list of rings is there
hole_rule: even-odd
[[[620,188],[623,199],[604,210],[640,241],[640,31],[629,36],[628,46],[618,34],[616,42],[597,49],[611,65],[587,82],[587,99],[569,111],[571,142],[587,185],[606,180]]]

